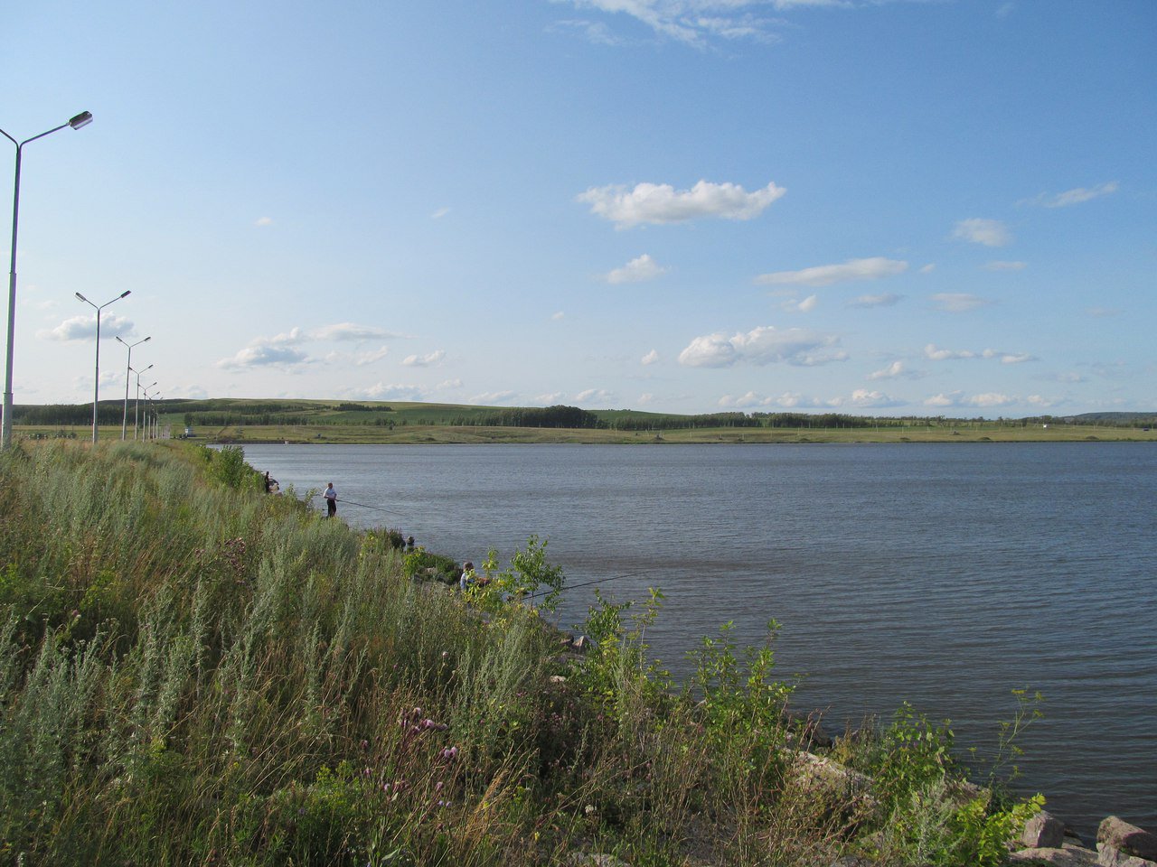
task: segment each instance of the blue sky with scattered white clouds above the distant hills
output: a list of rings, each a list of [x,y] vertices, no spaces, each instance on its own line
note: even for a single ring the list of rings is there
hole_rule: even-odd
[[[1157,408],[1151,0],[5,17],[17,403]]]

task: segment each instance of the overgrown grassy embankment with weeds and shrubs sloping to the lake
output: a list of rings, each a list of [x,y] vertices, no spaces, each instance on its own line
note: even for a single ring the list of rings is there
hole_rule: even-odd
[[[906,710],[854,772],[808,758],[771,645],[724,630],[680,690],[653,608],[604,605],[565,653],[495,590],[558,585],[537,544],[467,602],[237,450],[24,444],[0,479],[5,864],[995,865],[1032,809]]]

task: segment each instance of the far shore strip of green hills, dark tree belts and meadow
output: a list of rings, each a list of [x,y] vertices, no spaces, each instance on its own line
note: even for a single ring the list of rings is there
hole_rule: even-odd
[[[102,401],[102,439],[133,427],[137,407]],[[673,415],[570,406],[480,407],[338,400],[163,400],[146,405],[162,438],[214,444],[756,444],[1157,442],[1157,413],[982,418],[723,412]],[[31,439],[91,436],[93,405],[16,406],[14,430]]]

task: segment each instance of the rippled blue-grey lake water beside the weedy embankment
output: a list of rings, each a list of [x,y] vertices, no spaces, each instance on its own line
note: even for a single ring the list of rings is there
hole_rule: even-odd
[[[246,446],[299,495],[458,558],[548,540],[568,583],[666,602],[678,672],[734,621],[838,733],[904,701],[981,754],[1039,690],[1018,788],[1086,843],[1157,831],[1157,449],[1144,444]],[[320,498],[314,501],[320,504]],[[354,505],[354,503],[363,505]],[[374,507],[370,507],[374,506]],[[388,511],[382,511],[388,510]],[[569,628],[591,587],[567,595]],[[1090,839],[1092,837],[1092,839]]]

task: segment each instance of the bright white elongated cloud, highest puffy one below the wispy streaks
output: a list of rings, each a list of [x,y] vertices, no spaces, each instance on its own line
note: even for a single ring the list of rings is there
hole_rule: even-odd
[[[749,193],[738,184],[700,180],[691,190],[679,191],[670,184],[638,184],[631,191],[620,185],[591,187],[575,200],[589,203],[592,214],[610,220],[616,228],[627,229],[698,217],[751,220],[786,192],[774,183]]]

